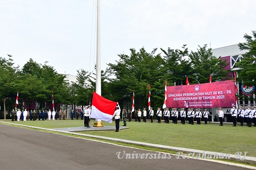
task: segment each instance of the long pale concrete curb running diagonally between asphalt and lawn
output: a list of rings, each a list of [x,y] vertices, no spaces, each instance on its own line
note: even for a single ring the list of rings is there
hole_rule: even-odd
[[[2,121],[0,121],[0,122],[2,122]],[[68,132],[68,131],[63,131],[63,130],[55,130],[55,129],[52,129],[52,128],[43,128],[43,127],[19,125],[19,124],[10,123],[10,122],[2,122],[2,123],[17,125],[17,126],[23,126],[23,127],[36,128],[36,129],[40,129],[40,130],[62,132],[62,133],[65,133],[65,134],[79,135],[79,136],[85,136],[85,137],[96,138],[96,139],[105,139],[105,140],[110,140],[110,141],[113,141],[113,142],[121,142],[121,143],[126,143],[126,144],[136,144],[137,146],[144,146],[144,147],[158,148],[158,149],[169,150],[169,151],[176,151],[177,152],[176,153],[176,159],[188,159],[188,156],[192,156],[191,159],[199,159],[199,156],[200,156],[204,159],[226,159],[226,160],[233,160],[233,161],[238,161],[238,162],[241,162],[241,163],[256,165],[256,157],[246,156],[246,153],[242,153],[242,152],[237,152],[235,155],[232,155],[232,154],[225,154],[225,153],[220,153],[220,152],[193,150],[193,149],[189,149],[189,148],[172,147],[172,146],[164,146],[164,145],[161,145],[161,144],[152,144],[152,143],[145,143],[145,142],[137,142],[137,141],[133,141],[133,140],[109,138],[109,137],[105,137],[105,136],[80,134],[80,133],[77,133],[77,132]]]

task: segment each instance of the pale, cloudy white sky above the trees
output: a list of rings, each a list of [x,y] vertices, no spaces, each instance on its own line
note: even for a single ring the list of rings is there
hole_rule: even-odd
[[[101,69],[144,47],[189,51],[245,42],[255,0],[101,0]],[[47,61],[60,74],[95,72],[96,0],[0,0],[0,57]],[[160,50],[157,51],[160,53]]]

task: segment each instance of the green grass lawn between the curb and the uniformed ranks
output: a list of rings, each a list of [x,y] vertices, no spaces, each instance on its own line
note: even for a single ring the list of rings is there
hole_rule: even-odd
[[[11,122],[11,121],[8,121]],[[84,121],[20,121],[13,122],[21,125],[37,126],[44,128],[77,127],[83,126]],[[92,120],[90,126],[93,126]],[[113,123],[103,122],[104,126],[115,126]],[[122,126],[120,122],[120,126]],[[218,124],[208,123],[207,125],[181,125],[177,123],[147,123],[127,122],[127,128],[114,131],[83,131],[82,134],[97,136],[108,136],[112,138],[135,140],[139,142],[163,144],[166,146],[193,148],[196,150],[222,152],[235,154],[236,152],[247,152],[246,156],[256,157],[256,127],[232,125],[218,126]]]

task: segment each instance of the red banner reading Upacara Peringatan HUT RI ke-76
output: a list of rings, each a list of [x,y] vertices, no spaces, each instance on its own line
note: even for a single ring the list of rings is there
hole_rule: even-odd
[[[234,81],[167,86],[167,107],[209,108],[236,105]]]

